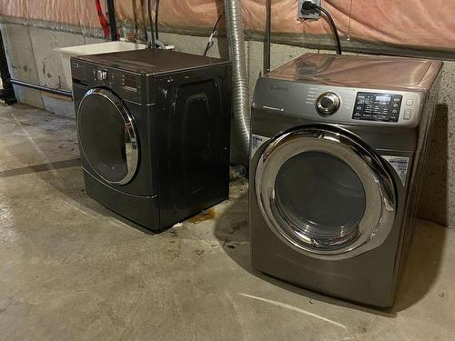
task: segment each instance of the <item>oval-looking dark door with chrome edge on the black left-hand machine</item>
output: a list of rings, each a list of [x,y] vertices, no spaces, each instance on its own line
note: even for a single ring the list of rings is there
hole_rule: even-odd
[[[77,109],[77,132],[87,162],[107,183],[126,185],[136,174],[139,145],[133,116],[112,92],[90,89]]]

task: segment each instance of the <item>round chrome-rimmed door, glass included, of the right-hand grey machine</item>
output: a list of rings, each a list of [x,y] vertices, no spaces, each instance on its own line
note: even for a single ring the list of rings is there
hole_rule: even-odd
[[[279,136],[256,172],[259,209],[288,246],[346,259],[384,242],[395,188],[380,156],[341,131],[308,127]]]

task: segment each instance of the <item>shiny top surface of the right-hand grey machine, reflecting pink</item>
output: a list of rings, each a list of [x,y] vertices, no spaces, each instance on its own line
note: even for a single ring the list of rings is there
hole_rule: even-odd
[[[425,90],[441,66],[440,61],[403,57],[305,54],[266,76],[321,85]]]

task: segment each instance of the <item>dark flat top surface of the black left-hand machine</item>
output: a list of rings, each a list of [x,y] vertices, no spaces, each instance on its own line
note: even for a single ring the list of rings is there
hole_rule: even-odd
[[[76,56],[75,59],[145,75],[167,74],[207,65],[229,63],[223,59],[160,49],[122,51],[101,55],[80,55]]]

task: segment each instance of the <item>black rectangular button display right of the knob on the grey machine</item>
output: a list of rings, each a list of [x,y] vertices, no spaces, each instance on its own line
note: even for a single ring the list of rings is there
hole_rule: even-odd
[[[357,94],[353,119],[365,121],[398,122],[402,95],[363,93]]]

